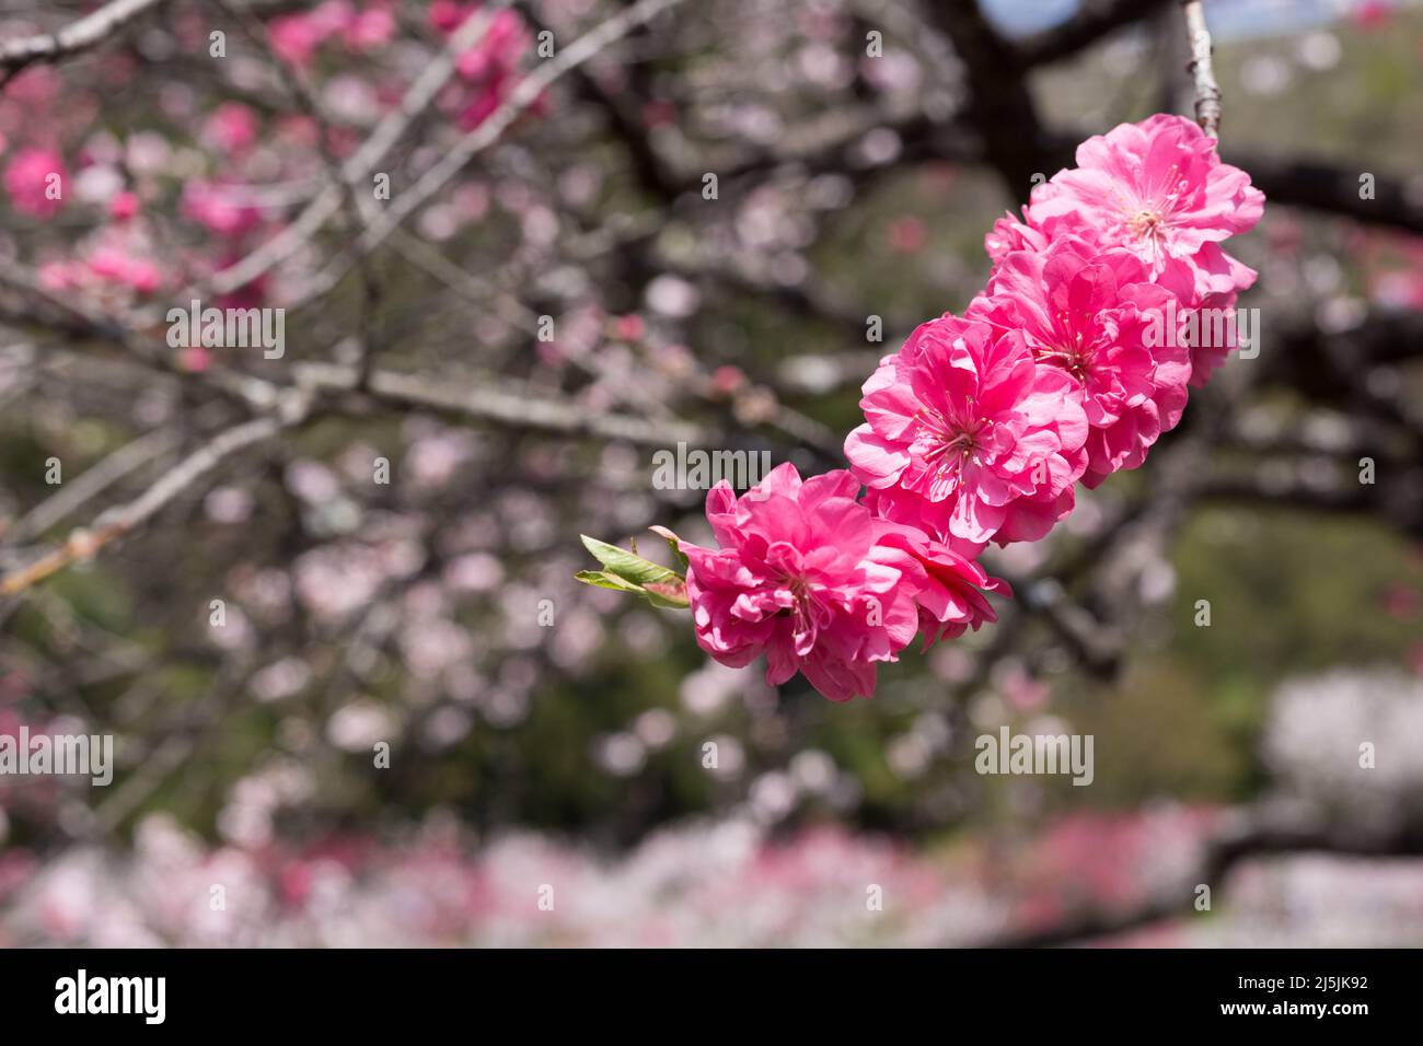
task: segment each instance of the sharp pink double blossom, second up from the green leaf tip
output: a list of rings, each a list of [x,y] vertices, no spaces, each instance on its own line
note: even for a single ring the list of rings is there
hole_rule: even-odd
[[[1013,330],[943,316],[864,386],[845,455],[885,518],[968,542],[1033,541],[1072,511],[1087,420]]]

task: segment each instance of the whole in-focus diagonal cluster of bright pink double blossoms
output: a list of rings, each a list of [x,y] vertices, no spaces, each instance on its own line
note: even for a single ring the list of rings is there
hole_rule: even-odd
[[[983,592],[1007,586],[976,556],[1044,537],[1079,482],[1138,467],[1224,361],[1232,343],[1163,324],[1234,306],[1255,273],[1220,243],[1262,209],[1181,117],[1083,142],[993,226],[992,276],[963,315],[921,324],[865,383],[850,471],[803,482],[784,465],[740,500],[712,491],[720,549],[680,544],[702,649],[731,666],[764,653],[768,682],[798,669],[847,700],[916,632],[995,620]]]

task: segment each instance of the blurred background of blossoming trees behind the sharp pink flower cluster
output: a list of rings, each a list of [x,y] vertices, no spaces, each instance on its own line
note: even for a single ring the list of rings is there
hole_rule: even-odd
[[[0,776],[0,945],[1423,944],[1423,6],[1205,4],[1259,354],[844,706],[578,535],[841,467],[1177,3],[121,6],[0,4],[0,734],[115,761]]]

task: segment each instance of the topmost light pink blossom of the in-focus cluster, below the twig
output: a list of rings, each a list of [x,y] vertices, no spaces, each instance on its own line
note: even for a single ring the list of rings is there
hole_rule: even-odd
[[[1248,232],[1264,209],[1265,194],[1248,174],[1221,162],[1201,128],[1184,117],[1157,114],[1079,145],[1077,167],[1035,189],[1026,218],[1050,239],[1083,236],[1086,222],[1091,242],[1130,250],[1153,278],[1171,259],[1184,262],[1205,293],[1254,282],[1245,266],[1222,260],[1215,245]]]

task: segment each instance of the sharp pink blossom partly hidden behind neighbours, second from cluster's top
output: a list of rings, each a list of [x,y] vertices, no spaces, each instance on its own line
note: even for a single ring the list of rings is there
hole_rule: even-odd
[[[1070,379],[1072,398],[1091,427],[1087,487],[1140,465],[1185,408],[1188,349],[1175,337],[1155,336],[1180,302],[1148,279],[1144,263],[1127,250],[1099,253],[1064,238],[1044,250],[1007,255],[986,296],[968,310],[999,330],[1020,332],[1040,364]]]

